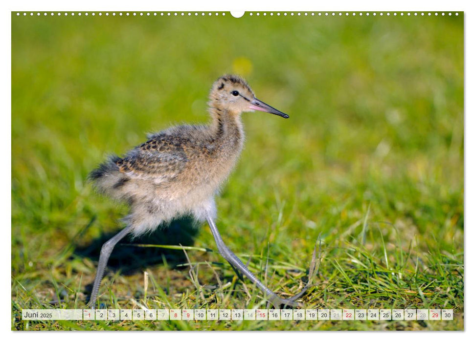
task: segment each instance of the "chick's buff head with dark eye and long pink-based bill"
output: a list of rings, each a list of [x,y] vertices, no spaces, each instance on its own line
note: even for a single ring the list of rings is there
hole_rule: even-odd
[[[288,118],[289,115],[256,99],[247,82],[236,75],[221,76],[211,87],[209,106],[239,115],[245,111],[260,110]]]

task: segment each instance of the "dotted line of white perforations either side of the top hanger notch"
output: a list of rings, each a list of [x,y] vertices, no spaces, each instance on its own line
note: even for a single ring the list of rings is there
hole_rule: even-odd
[[[74,16],[74,15],[76,15],[76,13],[74,13],[74,12],[70,12],[70,13],[68,13],[68,12],[64,12],[64,13],[61,13],[61,12],[56,12],[56,13],[54,13],[54,12],[51,12],[51,13],[44,12],[44,13],[43,13],[44,16],[47,16],[48,14],[51,15],[51,16],[54,16],[54,15],[56,15],[56,16],[61,16],[61,15],[64,15],[64,16],[68,16],[68,15]],[[192,15],[195,15],[195,16],[199,16],[199,15],[205,16],[206,14],[207,14],[208,16],[212,16],[212,15],[213,15],[213,13],[211,13],[211,12],[207,12],[207,13],[205,13],[205,12],[201,12],[201,13],[198,13],[198,12],[194,12],[194,13],[192,13],[192,12],[186,12],[186,13],[185,13],[185,12],[159,12],[159,13],[157,13],[157,12],[138,12],[138,13],[137,13],[137,12],[132,12],[132,13],[130,13],[130,12],[124,12],[124,13],[123,13],[123,12],[117,12],[117,13],[116,13],[116,12],[112,12],[112,13],[109,13],[109,12],[105,12],[105,13],[98,12],[98,13],[97,13],[98,16],[102,16],[103,14],[104,14],[105,16],[109,16],[109,15],[112,15],[112,16],[116,16],[116,15],[118,15],[118,16],[124,16],[124,15],[125,15],[125,16],[130,16],[130,15],[132,15],[132,16],[137,16],[137,15],[139,15],[139,16],[144,16],[144,15],[145,15],[145,16],[151,16],[151,15],[153,15],[153,16],[158,16],[158,15],[160,15],[160,16],[179,16],[179,15],[180,15],[180,16],[182,16],[182,17],[185,16],[185,15],[188,15],[188,16],[192,16]],[[405,16],[405,15],[407,15],[407,16],[411,16],[411,15],[417,16],[417,15],[421,15],[421,16],[424,16],[424,15],[426,15],[426,14],[427,14],[428,16],[431,16],[432,14],[433,14],[434,16],[438,16],[438,15],[439,15],[438,12],[435,12],[435,13],[431,13],[431,12],[427,12],[427,13],[424,13],[424,12],[419,12],[419,13],[418,13],[418,12],[412,12],[412,13],[411,13],[411,12],[406,12],[406,13],[404,13],[404,12],[378,12],[378,13],[376,13],[376,12],[317,12],[317,13],[315,13],[315,12],[310,12],[310,13],[309,13],[309,12],[303,12],[303,13],[301,13],[301,12],[296,12],[296,13],[294,13],[294,12],[290,12],[290,13],[287,13],[287,12],[283,12],[283,13],[280,13],[280,12],[276,12],[276,13],[273,13],[273,12],[270,12],[270,13],[266,13],[266,12],[264,12],[264,13],[256,12],[256,13],[255,13],[256,16],[260,16],[260,15],[267,16],[268,14],[269,14],[270,16],[273,16],[273,15],[276,15],[276,16],[281,16],[281,15],[283,15],[283,16],[287,16],[287,15],[290,15],[290,16],[294,16],[294,15],[297,15],[297,16],[302,16],[302,15],[303,15],[303,16],[308,16],[308,15],[310,15],[310,16],[315,16],[315,15],[317,15],[317,16],[339,16],[339,17],[341,17],[341,16],[347,16],[347,17],[348,17],[348,16],[357,16],[357,15],[358,15],[358,16],[361,16],[361,17],[362,17],[362,16],[367,16],[367,17],[373,16],[373,17],[376,17],[377,15],[379,15],[379,16],[384,16],[384,15],[386,15],[386,16],[390,16],[390,15],[393,15],[393,16],[398,16],[398,15],[399,15],[399,16]],[[446,14],[449,15],[449,16],[452,16],[452,12],[448,12],[448,13],[440,12],[440,15],[441,15],[441,16],[445,16]],[[22,13],[17,12],[17,16],[20,16],[20,15],[22,15]],[[27,16],[27,15],[28,15],[27,12],[23,12],[23,16]],[[30,15],[30,16],[34,16],[35,13],[30,12],[29,15]],[[41,16],[41,13],[40,13],[40,12],[37,12],[36,15],[37,15],[37,16]],[[77,15],[78,15],[78,16],[82,16],[83,13],[78,12]],[[95,12],[91,12],[91,13],[89,14],[88,12],[85,12],[84,15],[85,15],[85,16],[89,16],[89,15],[95,16],[96,13],[95,13]],[[215,16],[219,16],[220,13],[215,12],[214,15],[215,15]],[[223,12],[223,13],[221,13],[221,15],[225,16],[226,13]],[[249,16],[253,16],[253,15],[254,15],[254,13],[252,13],[252,12],[249,13]],[[455,12],[455,15],[458,16],[458,12]]]

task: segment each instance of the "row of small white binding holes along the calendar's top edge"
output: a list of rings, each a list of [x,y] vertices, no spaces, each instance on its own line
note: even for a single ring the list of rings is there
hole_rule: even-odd
[[[168,17],[178,17],[178,16],[181,16],[181,17],[191,17],[191,16],[195,16],[195,17],[198,17],[198,16],[226,16],[226,13],[224,12],[17,12],[16,15],[17,17],[19,16],[22,16],[23,17],[26,17],[26,16],[41,16],[43,14],[43,16],[133,16],[133,17],[136,17],[136,16],[140,16],[140,17],[143,17],[143,16],[146,16],[146,17],[150,17],[150,16],[154,16],[154,17],[157,17],[157,16],[168,16]],[[455,12],[453,13],[455,16],[458,16],[458,12]],[[438,16],[438,15],[441,15],[441,16],[445,16],[445,15],[449,15],[449,16],[452,16],[452,12],[249,12],[248,15],[250,17],[252,16],[267,16],[267,15],[270,15],[270,16],[325,16],[325,17],[328,17],[328,16],[332,16],[332,17],[343,17],[343,16],[346,16],[346,17],[350,17],[350,16],[353,16],[353,17],[356,17],[356,16],[366,16],[366,17],[369,17],[369,16],[373,16],[373,17],[376,17],[376,16],[415,16],[417,17],[418,15],[420,16],[431,16],[431,15],[434,15],[434,16]]]

